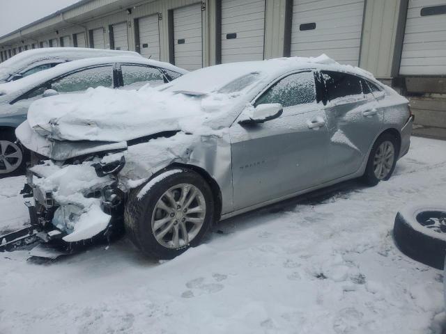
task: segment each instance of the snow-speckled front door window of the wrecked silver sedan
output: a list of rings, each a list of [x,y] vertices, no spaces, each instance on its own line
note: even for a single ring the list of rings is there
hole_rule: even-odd
[[[291,74],[278,81],[259,97],[255,105],[280,103],[285,108],[314,102],[316,102],[314,74],[302,72]]]

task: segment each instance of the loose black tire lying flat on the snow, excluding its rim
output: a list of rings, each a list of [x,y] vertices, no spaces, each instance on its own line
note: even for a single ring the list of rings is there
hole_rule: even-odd
[[[418,206],[403,209],[395,218],[393,234],[399,250],[408,257],[436,269],[444,269],[446,255],[446,225],[444,232],[426,228],[426,217],[446,216],[445,206]],[[420,223],[422,222],[422,223]]]

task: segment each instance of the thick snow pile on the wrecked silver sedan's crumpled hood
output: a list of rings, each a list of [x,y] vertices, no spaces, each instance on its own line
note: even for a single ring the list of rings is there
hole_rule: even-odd
[[[206,100],[148,85],[140,90],[90,88],[84,94],[37,100],[31,104],[28,122],[39,134],[61,141],[119,142],[199,127],[210,118],[207,111],[215,109]],[[224,105],[218,97],[215,101]]]

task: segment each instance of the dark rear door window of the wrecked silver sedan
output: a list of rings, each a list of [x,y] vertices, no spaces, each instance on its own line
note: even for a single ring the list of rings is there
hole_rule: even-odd
[[[349,97],[351,100],[364,98],[360,78],[339,72],[322,72],[322,75],[329,101],[342,97]]]

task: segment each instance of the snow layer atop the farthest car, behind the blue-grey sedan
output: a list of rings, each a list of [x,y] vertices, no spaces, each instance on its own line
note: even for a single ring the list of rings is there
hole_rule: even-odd
[[[75,60],[105,56],[139,56],[134,51],[88,49],[85,47],[45,47],[20,52],[7,61],[0,64],[0,79],[7,79],[10,74],[20,72],[25,67],[38,61],[51,59]]]

